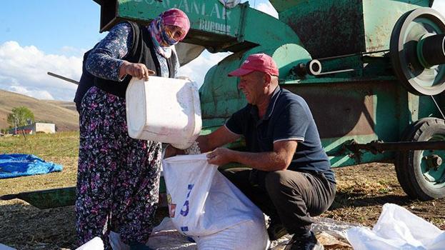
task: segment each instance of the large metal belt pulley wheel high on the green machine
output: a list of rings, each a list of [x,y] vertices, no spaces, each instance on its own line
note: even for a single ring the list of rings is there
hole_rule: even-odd
[[[445,19],[430,8],[406,12],[394,25],[389,46],[391,64],[397,79],[413,94],[431,96],[445,91],[445,65],[422,63],[421,52],[423,39],[440,34],[445,34]],[[439,43],[432,49],[440,54],[443,47]]]

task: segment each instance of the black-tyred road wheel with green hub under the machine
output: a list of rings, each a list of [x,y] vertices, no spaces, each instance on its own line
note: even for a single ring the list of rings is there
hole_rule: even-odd
[[[411,124],[402,141],[437,141],[445,139],[445,121],[424,118]],[[411,150],[396,154],[396,174],[405,193],[422,201],[445,197],[444,150]]]

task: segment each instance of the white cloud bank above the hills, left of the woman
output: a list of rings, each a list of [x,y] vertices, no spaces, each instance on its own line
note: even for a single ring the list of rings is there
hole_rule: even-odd
[[[21,46],[16,41],[6,41],[0,44],[0,89],[37,99],[71,101],[76,85],[49,76],[46,72],[79,80],[81,63],[81,56],[45,54],[36,46]]]

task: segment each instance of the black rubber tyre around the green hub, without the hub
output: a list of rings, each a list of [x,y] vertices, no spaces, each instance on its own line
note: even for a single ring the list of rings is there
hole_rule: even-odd
[[[427,141],[433,134],[445,135],[444,120],[431,117],[419,119],[405,129],[401,141]],[[411,150],[396,154],[394,165],[401,188],[411,199],[427,201],[445,197],[445,187],[432,189],[426,184],[420,165],[417,164],[421,153],[421,150]]]

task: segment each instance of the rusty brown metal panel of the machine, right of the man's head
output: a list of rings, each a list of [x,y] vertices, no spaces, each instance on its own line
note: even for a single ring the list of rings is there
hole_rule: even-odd
[[[283,87],[306,100],[321,139],[374,134],[376,124],[374,96],[380,92],[397,96],[397,86],[390,81],[306,86],[284,84]]]

